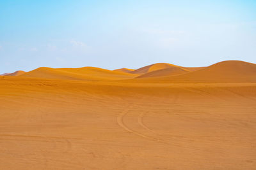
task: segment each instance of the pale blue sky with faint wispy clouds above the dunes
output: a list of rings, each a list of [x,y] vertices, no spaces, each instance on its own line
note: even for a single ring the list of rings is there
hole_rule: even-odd
[[[256,63],[255,0],[1,0],[0,73]]]

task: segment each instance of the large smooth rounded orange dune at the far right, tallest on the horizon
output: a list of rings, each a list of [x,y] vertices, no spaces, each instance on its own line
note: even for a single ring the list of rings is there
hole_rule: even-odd
[[[131,80],[131,81],[139,81]],[[143,78],[143,82],[255,82],[256,64],[238,60],[218,62],[204,69],[177,76]]]

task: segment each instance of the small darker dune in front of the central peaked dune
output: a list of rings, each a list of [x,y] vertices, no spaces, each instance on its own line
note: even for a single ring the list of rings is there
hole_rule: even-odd
[[[137,78],[147,78],[147,77],[156,77],[156,76],[174,76],[179,74],[188,73],[187,69],[182,69],[181,67],[169,67],[166,69],[159,69],[156,71],[151,71],[149,73],[142,74]]]

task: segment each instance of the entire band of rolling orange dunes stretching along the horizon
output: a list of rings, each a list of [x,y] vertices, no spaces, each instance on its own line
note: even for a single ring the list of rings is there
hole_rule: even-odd
[[[122,68],[116,70],[98,67],[50,68],[39,67],[33,71],[15,71],[8,76],[54,78],[60,80],[114,81],[128,82],[241,82],[256,81],[256,64],[239,60],[218,62],[208,67],[181,67],[167,63],[157,63],[136,70]]]

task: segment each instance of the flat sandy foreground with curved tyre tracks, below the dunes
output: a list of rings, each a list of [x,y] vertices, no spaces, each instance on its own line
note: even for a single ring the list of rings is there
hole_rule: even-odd
[[[256,83],[2,77],[0,169],[255,169]]]

